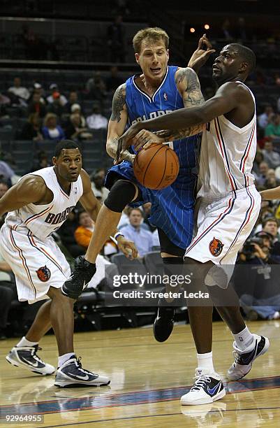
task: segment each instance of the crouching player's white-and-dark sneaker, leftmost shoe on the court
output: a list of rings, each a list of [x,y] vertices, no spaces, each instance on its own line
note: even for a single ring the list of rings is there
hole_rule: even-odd
[[[41,375],[52,374],[55,371],[54,366],[45,363],[36,353],[41,349],[38,345],[15,346],[6,356],[6,360],[13,366],[22,367],[23,369],[34,371],[34,373]]]

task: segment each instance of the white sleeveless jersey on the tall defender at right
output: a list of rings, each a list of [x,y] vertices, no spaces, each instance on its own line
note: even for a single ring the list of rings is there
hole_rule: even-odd
[[[198,197],[219,199],[252,185],[256,144],[256,104],[253,119],[243,128],[223,115],[209,122],[202,133]]]

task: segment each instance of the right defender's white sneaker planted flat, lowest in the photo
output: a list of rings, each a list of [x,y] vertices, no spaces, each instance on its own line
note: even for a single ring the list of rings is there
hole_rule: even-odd
[[[209,404],[226,395],[221,377],[217,373],[211,373],[207,369],[196,369],[196,382],[191,390],[181,397],[183,406],[196,406],[197,404]]]

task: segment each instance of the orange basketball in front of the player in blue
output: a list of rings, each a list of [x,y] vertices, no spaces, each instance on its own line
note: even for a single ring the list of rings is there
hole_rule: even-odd
[[[152,143],[135,156],[133,171],[143,186],[155,190],[164,189],[176,180],[179,159],[168,145]]]

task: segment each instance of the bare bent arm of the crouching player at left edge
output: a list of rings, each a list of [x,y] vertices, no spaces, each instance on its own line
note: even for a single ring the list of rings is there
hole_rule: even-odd
[[[15,211],[28,204],[39,204],[43,201],[47,186],[39,176],[26,176],[13,187],[10,187],[0,199],[0,216],[8,211]]]

